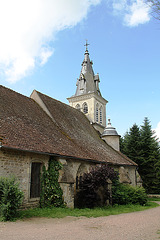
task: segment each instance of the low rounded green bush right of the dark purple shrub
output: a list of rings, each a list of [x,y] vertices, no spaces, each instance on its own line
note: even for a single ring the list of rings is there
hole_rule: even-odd
[[[112,186],[112,201],[113,204],[140,204],[147,203],[147,194],[143,187],[133,187],[124,185],[118,181]]]

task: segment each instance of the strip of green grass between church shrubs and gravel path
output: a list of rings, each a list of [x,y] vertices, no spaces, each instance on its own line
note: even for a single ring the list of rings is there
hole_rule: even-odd
[[[159,201],[159,199],[157,201]],[[31,217],[64,218],[66,216],[102,217],[102,216],[109,216],[109,215],[117,215],[121,213],[143,211],[143,210],[157,207],[157,206],[159,205],[155,202],[148,202],[145,206],[114,205],[112,207],[108,206],[104,208],[94,208],[94,209],[33,208],[33,209],[27,209],[27,210],[20,210],[19,216],[17,217],[17,219],[25,219],[25,218],[31,218]],[[1,217],[0,217],[0,221],[2,221]]]

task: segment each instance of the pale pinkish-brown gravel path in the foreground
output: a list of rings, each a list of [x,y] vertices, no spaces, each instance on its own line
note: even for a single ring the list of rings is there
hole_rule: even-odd
[[[160,239],[160,207],[108,217],[32,218],[0,223],[0,240],[155,239]]]

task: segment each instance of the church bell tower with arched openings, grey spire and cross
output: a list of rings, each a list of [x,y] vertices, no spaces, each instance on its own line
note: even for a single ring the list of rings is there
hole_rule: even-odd
[[[106,104],[108,101],[101,95],[99,74],[94,74],[93,62],[89,58],[88,45],[86,40],[84,45],[86,50],[80,76],[76,83],[76,93],[67,100],[70,106],[82,111],[95,129],[102,134],[106,127]]]

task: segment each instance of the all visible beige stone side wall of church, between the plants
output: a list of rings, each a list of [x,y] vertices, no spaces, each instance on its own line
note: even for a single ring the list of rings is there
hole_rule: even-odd
[[[0,151],[0,177],[15,176],[20,188],[24,192],[23,206],[34,206],[39,203],[39,198],[30,198],[31,167],[32,163],[48,165],[49,156],[13,150]],[[67,207],[74,207],[76,196],[76,178],[89,172],[96,164],[89,161],[74,159],[58,159],[63,168],[60,170],[59,183],[63,190],[63,198]],[[120,173],[122,183],[136,185],[135,167],[115,167]]]

